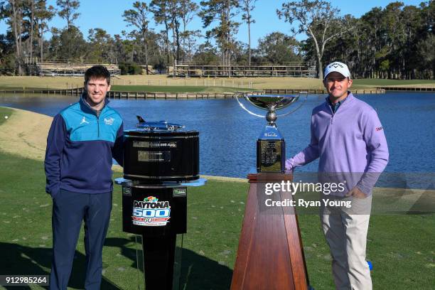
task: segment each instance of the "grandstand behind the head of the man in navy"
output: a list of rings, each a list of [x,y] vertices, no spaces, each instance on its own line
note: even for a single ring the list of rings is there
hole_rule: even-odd
[[[36,72],[41,76],[82,76],[85,71],[93,65],[104,65],[109,70],[111,75],[119,75],[118,65],[109,63],[86,62],[86,63],[62,63],[56,61],[44,61],[43,63],[35,63]]]

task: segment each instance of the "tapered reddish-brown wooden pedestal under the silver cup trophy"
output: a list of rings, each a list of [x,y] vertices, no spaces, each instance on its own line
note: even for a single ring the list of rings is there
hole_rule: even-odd
[[[249,174],[249,192],[231,290],[306,290],[308,275],[294,207],[267,208],[265,183],[292,181],[284,173]],[[275,200],[292,200],[288,191],[274,193]]]

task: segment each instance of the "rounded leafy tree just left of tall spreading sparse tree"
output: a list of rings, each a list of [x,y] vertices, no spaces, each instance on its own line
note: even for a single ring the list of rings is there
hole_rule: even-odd
[[[299,42],[281,32],[272,32],[259,39],[259,54],[264,60],[274,64],[284,64],[291,61],[301,61]]]

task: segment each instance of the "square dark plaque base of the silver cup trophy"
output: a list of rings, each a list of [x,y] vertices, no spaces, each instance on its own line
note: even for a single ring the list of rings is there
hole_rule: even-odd
[[[286,143],[284,139],[257,140],[257,172],[282,173],[286,170]]]

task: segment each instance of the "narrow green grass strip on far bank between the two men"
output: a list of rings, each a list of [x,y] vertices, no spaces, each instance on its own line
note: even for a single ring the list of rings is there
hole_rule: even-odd
[[[112,90],[130,92],[240,92],[249,89],[239,87],[204,87],[189,85],[112,85]]]

